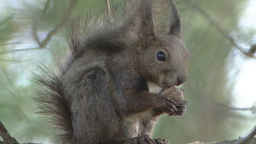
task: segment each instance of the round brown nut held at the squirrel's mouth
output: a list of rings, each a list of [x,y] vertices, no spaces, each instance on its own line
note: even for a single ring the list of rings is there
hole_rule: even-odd
[[[172,100],[174,100],[176,104],[180,104],[184,99],[183,90],[180,88],[170,87],[164,90],[162,94],[169,98],[172,98]]]

